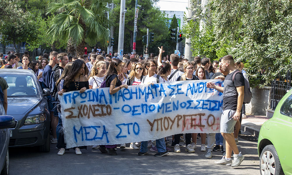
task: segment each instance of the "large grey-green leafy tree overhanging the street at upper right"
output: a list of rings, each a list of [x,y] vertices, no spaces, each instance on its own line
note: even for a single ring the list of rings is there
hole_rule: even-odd
[[[208,3],[210,22],[207,26],[212,27],[207,27],[204,32],[210,38],[201,38],[202,32],[198,32],[196,21],[185,28],[193,37],[192,47],[196,54],[208,57],[212,55],[212,49],[216,50],[217,57],[232,54],[235,60],[248,65],[246,71],[254,86],[259,84],[260,73],[265,81],[263,85],[266,85],[279,72],[291,69],[292,1],[210,0]],[[201,9],[193,10],[197,11],[194,19],[199,21]],[[197,46],[200,42],[205,46]]]

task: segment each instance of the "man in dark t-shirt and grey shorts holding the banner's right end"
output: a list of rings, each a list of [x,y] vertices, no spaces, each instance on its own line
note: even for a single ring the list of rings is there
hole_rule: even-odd
[[[220,132],[226,141],[226,154],[219,161],[215,161],[218,165],[231,165],[237,167],[244,160],[244,156],[239,152],[234,140],[234,126],[241,115],[241,107],[244,102],[244,76],[234,66],[234,60],[231,55],[226,55],[221,60],[222,69],[228,71],[228,75],[224,80],[224,88],[207,83],[208,88],[213,88],[219,92],[223,92],[223,106],[220,120]],[[233,151],[233,162],[231,154]]]

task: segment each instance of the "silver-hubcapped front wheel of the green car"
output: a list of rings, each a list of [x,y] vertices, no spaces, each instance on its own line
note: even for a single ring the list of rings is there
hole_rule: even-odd
[[[281,163],[274,145],[267,145],[260,154],[261,175],[284,175]]]

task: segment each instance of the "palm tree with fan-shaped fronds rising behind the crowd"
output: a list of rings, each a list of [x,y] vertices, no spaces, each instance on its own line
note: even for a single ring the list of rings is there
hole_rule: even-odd
[[[111,22],[107,3],[112,0],[49,0],[46,15],[53,19],[46,33],[53,43],[66,43],[71,55],[83,55],[86,43],[106,46]],[[72,53],[73,52],[73,53]]]

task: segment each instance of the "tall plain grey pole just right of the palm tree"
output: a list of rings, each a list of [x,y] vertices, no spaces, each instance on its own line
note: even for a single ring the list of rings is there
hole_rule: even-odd
[[[126,1],[121,0],[121,9],[120,9],[120,25],[119,25],[119,44],[118,44],[118,55],[119,58],[124,55],[124,30],[125,30],[125,9]],[[121,58],[123,59],[123,58]]]

